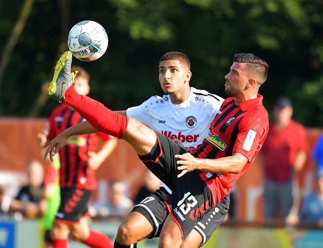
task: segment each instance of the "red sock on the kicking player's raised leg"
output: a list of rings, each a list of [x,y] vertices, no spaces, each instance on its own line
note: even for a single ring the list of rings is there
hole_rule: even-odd
[[[126,132],[128,118],[104,107],[89,97],[79,95],[73,87],[65,92],[64,102],[73,107],[95,129],[122,138]]]

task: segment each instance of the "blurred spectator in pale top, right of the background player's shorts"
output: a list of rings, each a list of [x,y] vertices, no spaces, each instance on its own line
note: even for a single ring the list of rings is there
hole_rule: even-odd
[[[122,180],[110,182],[109,197],[104,202],[93,204],[97,217],[124,218],[132,209],[133,202],[127,197],[127,185]]]

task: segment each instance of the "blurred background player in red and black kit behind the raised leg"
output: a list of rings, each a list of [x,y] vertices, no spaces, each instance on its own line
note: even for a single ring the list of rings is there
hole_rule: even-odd
[[[81,95],[90,92],[89,74],[81,67],[73,67],[76,73],[74,89]],[[73,108],[62,104],[53,110],[48,121],[48,142],[66,128],[84,121]],[[97,151],[98,138],[103,139],[102,147]],[[60,155],[61,205],[56,214],[51,231],[53,248],[66,248],[69,235],[76,241],[89,247],[113,247],[109,237],[101,232],[89,229],[88,201],[96,189],[95,170],[112,153],[117,139],[107,134],[95,133],[70,137]]]

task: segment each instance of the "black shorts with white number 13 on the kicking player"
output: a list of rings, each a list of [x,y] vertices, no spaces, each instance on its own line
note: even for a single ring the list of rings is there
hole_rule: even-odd
[[[179,226],[184,240],[202,217],[213,207],[210,189],[199,177],[201,171],[186,173],[177,178],[176,154],[187,151],[165,135],[156,132],[157,142],[149,154],[139,156],[145,166],[170,189],[167,209]]]

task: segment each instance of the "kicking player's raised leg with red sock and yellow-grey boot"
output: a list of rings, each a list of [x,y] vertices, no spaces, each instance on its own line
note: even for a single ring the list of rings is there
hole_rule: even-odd
[[[53,79],[49,83],[50,97],[73,107],[98,131],[123,138],[139,155],[148,154],[156,144],[156,133],[137,120],[115,113],[98,101],[78,94],[71,87],[71,63],[72,54],[67,51],[60,57]]]

